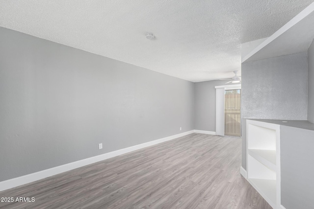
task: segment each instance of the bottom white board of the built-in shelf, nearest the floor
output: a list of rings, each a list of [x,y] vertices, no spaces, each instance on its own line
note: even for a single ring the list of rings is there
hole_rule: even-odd
[[[276,180],[248,179],[248,181],[271,207],[276,208]]]

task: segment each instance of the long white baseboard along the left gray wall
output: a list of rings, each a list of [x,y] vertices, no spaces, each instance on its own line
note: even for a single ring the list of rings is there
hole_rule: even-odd
[[[20,177],[14,178],[14,179],[5,180],[5,181],[0,182],[0,191],[6,190],[6,189],[9,189],[9,188],[13,188],[13,187],[16,187],[16,186],[25,185],[27,183],[34,182],[34,181],[37,181],[37,180],[40,180],[40,179],[44,179],[44,178],[47,178],[47,177],[50,177],[50,176],[53,176],[53,175],[56,175],[56,174],[59,174],[59,173],[63,173],[63,172],[66,172],[66,171],[69,171],[69,170],[72,170],[72,169],[75,169],[75,168],[78,168],[78,167],[82,167],[82,166],[85,166],[85,165],[88,165],[88,164],[91,164],[91,163],[96,163],[96,162],[99,162],[99,161],[103,161],[103,160],[106,160],[108,158],[112,158],[112,157],[115,157],[115,156],[118,156],[118,155],[126,154],[128,152],[132,152],[132,151],[135,151],[135,150],[138,150],[138,149],[142,149],[142,148],[145,148],[145,147],[148,147],[148,146],[152,146],[152,145],[164,142],[164,141],[169,141],[171,139],[176,139],[176,138],[179,138],[179,137],[183,137],[185,135],[192,134],[192,133],[194,133],[194,130],[187,131],[187,132],[184,132],[184,133],[181,133],[181,134],[176,134],[176,135],[173,135],[173,136],[170,136],[170,137],[165,137],[165,138],[162,138],[162,139],[149,141],[149,142],[146,142],[146,143],[142,143],[142,144],[138,144],[138,145],[135,145],[135,146],[127,147],[127,148],[124,148],[124,149],[119,149],[119,150],[116,150],[116,151],[113,151],[113,152],[108,152],[108,153],[105,153],[105,154],[102,154],[102,155],[98,155],[98,156],[94,156],[94,157],[91,157],[91,158],[83,159],[83,160],[76,161],[76,162],[73,162],[73,163],[67,163],[67,164],[64,164],[64,165],[52,167],[52,168],[49,168],[49,169],[46,169],[46,170],[38,171],[36,173],[31,173],[31,174],[27,174],[25,176],[20,176]]]

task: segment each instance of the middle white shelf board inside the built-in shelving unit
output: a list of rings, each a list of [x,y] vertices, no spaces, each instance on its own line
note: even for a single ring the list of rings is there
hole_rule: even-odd
[[[248,149],[248,154],[260,163],[276,171],[276,150]]]

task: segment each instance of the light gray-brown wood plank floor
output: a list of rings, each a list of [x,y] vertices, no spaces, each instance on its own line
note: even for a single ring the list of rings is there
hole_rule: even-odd
[[[5,209],[271,209],[239,174],[241,139],[190,134],[24,186]]]

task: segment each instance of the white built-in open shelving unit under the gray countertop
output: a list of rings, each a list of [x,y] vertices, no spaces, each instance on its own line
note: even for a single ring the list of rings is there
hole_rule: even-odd
[[[248,182],[274,209],[280,207],[280,125],[246,120]]]

